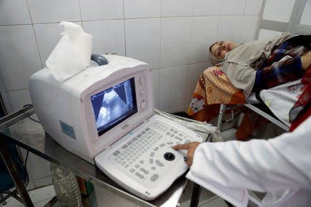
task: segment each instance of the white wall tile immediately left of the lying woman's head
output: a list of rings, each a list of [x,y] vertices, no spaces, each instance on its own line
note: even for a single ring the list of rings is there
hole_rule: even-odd
[[[209,61],[208,48],[216,41],[218,25],[218,16],[193,18],[190,63]]]

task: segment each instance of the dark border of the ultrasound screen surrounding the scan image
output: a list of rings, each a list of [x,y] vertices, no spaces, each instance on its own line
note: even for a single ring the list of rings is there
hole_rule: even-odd
[[[132,100],[133,101],[133,109],[129,110],[125,114],[121,115],[120,116],[120,117],[122,117],[121,119],[120,119],[120,117],[117,117],[117,119],[114,119],[113,121],[110,121],[109,123],[104,124],[103,126],[100,126],[99,128],[97,128],[97,126],[95,126],[95,128],[97,129],[98,137],[100,137],[104,133],[108,132],[109,130],[111,130],[112,128],[117,126],[118,124],[122,123],[124,120],[129,119],[129,117],[135,115],[138,112],[138,105],[137,105],[137,99],[136,99],[136,88],[135,88],[135,77],[129,77],[129,78],[125,79],[125,80],[122,80],[122,81],[119,81],[118,83],[113,84],[113,86],[111,86],[109,88],[105,88],[105,89],[101,90],[100,92],[97,92],[97,93],[91,95],[90,101],[91,101],[91,107],[92,107],[92,111],[93,111],[93,115],[94,115],[93,119],[94,119],[94,121],[96,123],[92,97],[95,96],[95,95],[99,95],[100,93],[104,92],[105,90],[109,90],[109,89],[119,85],[120,83],[124,83],[125,81],[130,81],[130,84],[131,84],[131,93],[132,93],[132,99],[133,99]],[[112,122],[113,122],[113,124],[111,124]]]

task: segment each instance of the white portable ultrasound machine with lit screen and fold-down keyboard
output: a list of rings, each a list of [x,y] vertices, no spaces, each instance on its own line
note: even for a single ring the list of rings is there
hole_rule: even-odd
[[[32,104],[58,144],[134,195],[155,199],[188,169],[187,152],[171,146],[202,137],[154,114],[147,63],[117,55],[98,57],[106,63],[62,83],[48,68],[36,72],[29,81]]]

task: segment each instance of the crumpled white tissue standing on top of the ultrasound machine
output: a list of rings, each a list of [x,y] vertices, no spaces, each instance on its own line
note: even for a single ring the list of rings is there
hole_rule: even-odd
[[[93,36],[72,22],[62,21],[59,26],[64,26],[62,39],[46,60],[46,66],[62,82],[90,66]]]

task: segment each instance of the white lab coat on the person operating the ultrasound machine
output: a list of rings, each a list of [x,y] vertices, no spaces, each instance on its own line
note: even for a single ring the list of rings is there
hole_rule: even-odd
[[[200,144],[187,178],[268,192],[262,206],[311,206],[311,117],[273,139]]]

